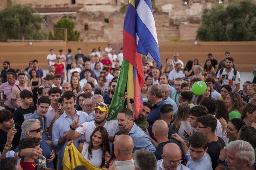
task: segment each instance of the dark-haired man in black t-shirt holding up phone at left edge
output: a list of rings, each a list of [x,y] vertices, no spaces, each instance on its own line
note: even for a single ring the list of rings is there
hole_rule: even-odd
[[[8,146],[11,144],[11,150],[14,150],[14,148],[18,146],[20,141],[21,127],[19,125],[15,125],[17,132],[13,137],[12,143],[6,143],[7,133],[11,128],[13,128],[12,113],[9,110],[0,110],[0,126],[0,152],[3,152],[5,144],[7,144]]]

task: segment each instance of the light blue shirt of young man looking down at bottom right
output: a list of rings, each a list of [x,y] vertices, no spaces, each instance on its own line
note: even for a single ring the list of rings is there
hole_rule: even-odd
[[[204,156],[200,160],[195,162],[192,160],[188,150],[185,155],[185,159],[188,161],[187,167],[191,170],[199,170],[199,169],[212,170],[212,160],[210,155],[208,155],[208,153],[206,152],[204,153]]]

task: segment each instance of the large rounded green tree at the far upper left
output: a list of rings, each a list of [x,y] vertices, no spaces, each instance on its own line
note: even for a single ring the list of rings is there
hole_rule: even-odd
[[[11,5],[0,11],[0,40],[7,39],[42,39],[40,15],[26,5]]]

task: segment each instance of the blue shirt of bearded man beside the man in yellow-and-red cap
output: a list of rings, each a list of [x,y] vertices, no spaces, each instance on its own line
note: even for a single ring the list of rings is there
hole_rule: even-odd
[[[151,152],[156,151],[155,146],[150,141],[148,135],[145,131],[143,131],[140,127],[138,127],[135,123],[133,124],[131,130],[129,131],[129,135],[132,137],[134,148],[133,153],[137,149],[148,149]]]

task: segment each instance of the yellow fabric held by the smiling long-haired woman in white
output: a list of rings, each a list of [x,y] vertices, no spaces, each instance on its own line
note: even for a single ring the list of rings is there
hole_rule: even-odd
[[[70,146],[66,146],[65,148],[63,157],[63,170],[72,170],[79,165],[86,166],[88,170],[101,170],[100,167],[96,167],[90,164],[72,143]]]

